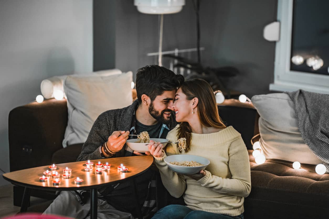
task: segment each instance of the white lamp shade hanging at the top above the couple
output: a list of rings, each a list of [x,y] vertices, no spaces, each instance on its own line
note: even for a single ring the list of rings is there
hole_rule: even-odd
[[[144,14],[173,14],[182,10],[185,0],[134,0],[134,5]]]

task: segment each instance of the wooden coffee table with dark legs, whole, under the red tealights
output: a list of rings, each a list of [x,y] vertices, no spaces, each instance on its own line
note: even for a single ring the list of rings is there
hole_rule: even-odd
[[[111,164],[110,171],[103,172],[102,174],[95,173],[95,164],[100,161],[102,164],[108,162]],[[85,167],[87,161],[79,161],[65,164],[55,164],[57,170],[49,170],[48,166],[39,166],[30,169],[17,170],[10,173],[3,174],[3,178],[8,180],[14,185],[25,187],[24,195],[22,199],[21,212],[27,210],[31,189],[42,190],[90,190],[90,218],[97,218],[97,188],[102,186],[109,186],[122,180],[131,179],[133,183],[133,193],[136,197],[136,209],[139,218],[143,218],[141,214],[141,207],[138,203],[137,185],[135,177],[145,172],[153,162],[153,156],[132,156],[132,157],[120,157],[120,158],[107,158],[100,160],[91,160],[94,163],[93,171],[86,172]],[[123,173],[118,171],[117,166],[123,164],[128,168],[128,171]],[[51,165],[51,164],[50,164]],[[62,177],[63,169],[66,167],[72,169],[71,178],[64,179]],[[51,176],[45,182],[40,182],[39,177],[42,177],[43,172],[46,170],[57,171],[61,174],[59,180],[61,181],[58,186],[53,186],[54,180]],[[76,185],[74,180],[79,177],[84,182],[81,185]]]

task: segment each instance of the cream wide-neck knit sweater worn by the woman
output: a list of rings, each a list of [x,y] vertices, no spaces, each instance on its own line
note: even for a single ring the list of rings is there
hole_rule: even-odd
[[[169,141],[177,142],[178,126],[168,133]],[[184,194],[187,207],[193,210],[231,216],[243,213],[243,197],[251,189],[249,156],[240,133],[232,126],[216,133],[192,133],[190,151],[182,154],[210,160],[206,175],[198,181],[168,168],[164,158],[173,154],[180,154],[178,145],[168,143],[164,157],[155,158],[162,182],[172,196]]]

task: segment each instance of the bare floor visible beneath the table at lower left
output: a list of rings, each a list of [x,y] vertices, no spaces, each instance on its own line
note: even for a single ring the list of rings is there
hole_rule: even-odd
[[[47,201],[36,197],[31,197],[31,205]],[[0,186],[0,218],[16,214],[20,207],[13,205],[13,185]]]

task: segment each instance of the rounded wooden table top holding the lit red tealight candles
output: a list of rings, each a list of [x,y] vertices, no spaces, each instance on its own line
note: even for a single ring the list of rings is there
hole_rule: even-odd
[[[65,164],[55,164],[55,166],[57,166],[56,170],[50,170],[48,167],[52,164],[49,164],[47,166],[39,166],[5,173],[3,174],[3,177],[18,186],[43,190],[72,190],[74,188],[91,189],[100,187],[100,185],[105,186],[107,184],[113,184],[120,180],[143,173],[152,165],[153,156],[131,156],[90,161],[94,163],[93,169],[90,172],[85,171],[87,161],[78,161]],[[111,164],[110,171],[103,171],[102,174],[96,173],[95,170],[97,167],[95,164],[98,164],[99,161],[102,164],[105,164],[106,162]],[[127,172],[120,172],[118,170],[117,167],[121,164],[128,168]],[[72,169],[71,177],[68,179],[64,179],[62,176],[63,169],[66,167]],[[55,180],[52,176],[48,176],[48,179],[45,182],[40,182],[39,177],[42,177],[43,172],[46,170],[49,170],[52,173],[57,171],[60,174],[60,177],[58,178],[60,180],[60,184],[58,186],[54,186],[52,184],[53,180]],[[77,177],[83,179],[83,183],[81,185],[76,185],[74,183],[74,180]]]

